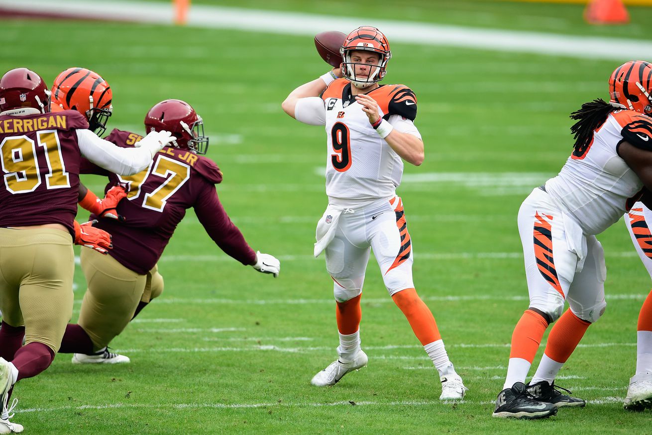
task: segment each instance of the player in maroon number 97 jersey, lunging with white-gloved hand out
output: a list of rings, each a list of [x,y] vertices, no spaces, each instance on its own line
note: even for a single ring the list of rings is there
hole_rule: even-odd
[[[100,219],[97,224],[113,235],[114,248],[109,255],[82,252],[88,289],[79,323],[68,325],[59,349],[61,353],[74,353],[74,363],[129,362],[124,355],[106,351],[106,346],[162,293],[163,278],[156,262],[190,207],[228,255],[274,277],[280,270],[279,261],[272,255],[249,247],[220,204],[215,184],[222,181],[222,172],[201,155],[207,150],[208,138],[203,135],[203,121],[195,110],[184,101],[162,101],[147,112],[145,129],[168,129],[175,136],[172,146],[158,153],[147,170],[134,176],[118,176],[95,165],[87,169],[108,175],[107,190],[125,186],[127,199],[116,209],[125,221]],[[130,148],[140,138],[136,133],[114,129],[107,140]]]

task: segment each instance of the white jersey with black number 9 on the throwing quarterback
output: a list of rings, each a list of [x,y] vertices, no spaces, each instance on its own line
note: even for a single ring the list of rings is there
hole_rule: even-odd
[[[412,123],[417,115],[417,100],[411,89],[403,85],[383,85],[368,95],[378,103],[380,116],[394,128],[421,138]],[[296,118],[325,125],[326,194],[330,202],[356,204],[393,197],[401,182],[403,161],[371,126],[363,106],[351,95],[351,84],[343,78],[335,80],[321,99],[323,107],[319,110],[323,110],[323,115],[314,114],[313,119],[309,119],[311,116],[306,116],[306,112],[310,109],[298,104]]]

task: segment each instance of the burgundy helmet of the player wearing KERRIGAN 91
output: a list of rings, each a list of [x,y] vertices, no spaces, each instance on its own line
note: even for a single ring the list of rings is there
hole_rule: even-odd
[[[0,112],[20,108],[50,112],[48,87],[36,72],[27,68],[12,69],[0,78]]]

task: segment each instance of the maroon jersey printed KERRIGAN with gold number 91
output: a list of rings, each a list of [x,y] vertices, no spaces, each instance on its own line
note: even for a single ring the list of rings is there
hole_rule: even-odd
[[[82,158],[75,129],[87,128],[76,110],[0,116],[0,227],[60,223],[74,235]]]

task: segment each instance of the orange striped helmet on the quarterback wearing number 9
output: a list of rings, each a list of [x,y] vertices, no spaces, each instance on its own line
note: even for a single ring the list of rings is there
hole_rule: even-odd
[[[351,52],[356,50],[374,52],[380,55],[378,67],[370,69],[366,77],[357,77],[355,75],[355,65],[363,65],[351,61]],[[349,33],[340,48],[340,54],[344,60],[342,75],[357,88],[366,88],[383,80],[387,73],[385,71],[387,61],[392,57],[392,52],[389,50],[389,41],[385,35],[376,27],[370,25],[363,25]]]

